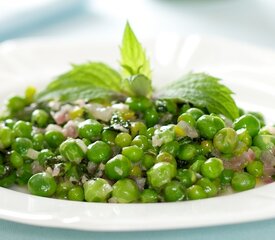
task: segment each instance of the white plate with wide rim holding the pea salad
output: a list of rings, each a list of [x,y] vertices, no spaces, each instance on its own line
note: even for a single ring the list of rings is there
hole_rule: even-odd
[[[275,53],[224,39],[161,36],[146,44],[155,85],[184,72],[222,77],[238,104],[274,117]],[[118,64],[116,43],[29,39],[0,46],[0,96],[28,85],[45,86],[69,63],[87,60]],[[275,218],[275,183],[206,200],[160,204],[100,204],[48,199],[0,188],[0,217],[11,221],[92,231],[194,228]]]

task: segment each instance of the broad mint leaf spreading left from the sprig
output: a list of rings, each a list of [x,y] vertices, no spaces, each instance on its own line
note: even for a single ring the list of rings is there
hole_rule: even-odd
[[[52,81],[37,96],[38,101],[110,98],[122,95],[121,75],[104,63],[89,62],[73,68]]]

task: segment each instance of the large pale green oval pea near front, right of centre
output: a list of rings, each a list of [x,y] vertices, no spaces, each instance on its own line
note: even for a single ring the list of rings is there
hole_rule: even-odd
[[[159,189],[170,182],[176,173],[176,167],[172,163],[159,162],[147,171],[147,180],[153,188]]]

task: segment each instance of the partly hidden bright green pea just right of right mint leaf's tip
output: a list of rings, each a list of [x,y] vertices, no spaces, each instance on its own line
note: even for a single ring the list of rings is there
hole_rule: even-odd
[[[260,121],[251,114],[245,114],[233,122],[235,130],[245,128],[251,137],[255,137],[261,128]]]

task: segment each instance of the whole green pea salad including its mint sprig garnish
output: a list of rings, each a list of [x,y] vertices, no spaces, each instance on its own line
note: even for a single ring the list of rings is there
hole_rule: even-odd
[[[154,91],[127,23],[120,70],[73,65],[37,92],[6,101],[0,186],[73,201],[197,200],[273,182],[275,127],[238,108],[232,91],[189,73]]]

